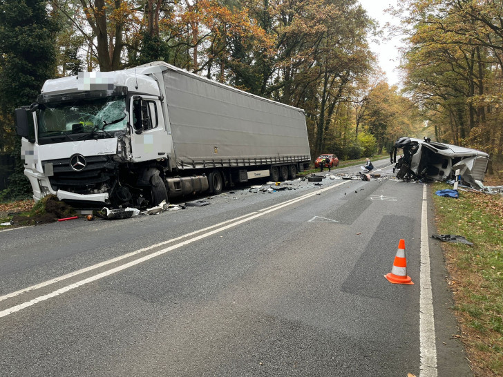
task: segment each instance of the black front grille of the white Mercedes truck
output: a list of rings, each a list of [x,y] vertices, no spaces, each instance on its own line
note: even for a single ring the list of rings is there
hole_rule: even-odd
[[[64,190],[72,193],[89,193],[100,189],[102,184],[110,180],[106,174],[106,156],[85,157],[86,167],[82,171],[75,171],[70,166],[70,159],[46,161],[53,164],[54,175],[49,177],[53,190]]]

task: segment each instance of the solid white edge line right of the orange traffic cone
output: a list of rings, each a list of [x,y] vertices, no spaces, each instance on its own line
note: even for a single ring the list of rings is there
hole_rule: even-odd
[[[421,211],[421,264],[419,270],[419,377],[437,376],[437,346],[435,344],[435,317],[431,290],[430,248],[428,246],[427,186],[423,186]]]

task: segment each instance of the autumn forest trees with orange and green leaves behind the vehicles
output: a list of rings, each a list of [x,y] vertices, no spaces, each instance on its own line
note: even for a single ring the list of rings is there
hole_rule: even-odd
[[[379,20],[356,0],[0,0],[0,165],[19,160],[13,113],[46,79],[158,60],[303,108],[313,158],[370,157],[398,137],[428,136],[502,162],[502,8],[391,9],[401,28],[388,31],[404,35],[398,88],[369,48],[386,37]],[[19,161],[0,189],[29,192]]]

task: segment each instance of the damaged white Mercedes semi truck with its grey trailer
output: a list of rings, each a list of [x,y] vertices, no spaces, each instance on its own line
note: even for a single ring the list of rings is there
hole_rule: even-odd
[[[155,206],[310,163],[303,110],[162,61],[50,79],[15,110],[33,199]]]

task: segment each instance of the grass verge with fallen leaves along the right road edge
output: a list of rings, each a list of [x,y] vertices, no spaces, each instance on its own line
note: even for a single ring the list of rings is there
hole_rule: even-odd
[[[452,189],[434,184],[434,191]],[[433,195],[437,230],[473,246],[442,242],[455,314],[475,376],[503,376],[503,196]]]

